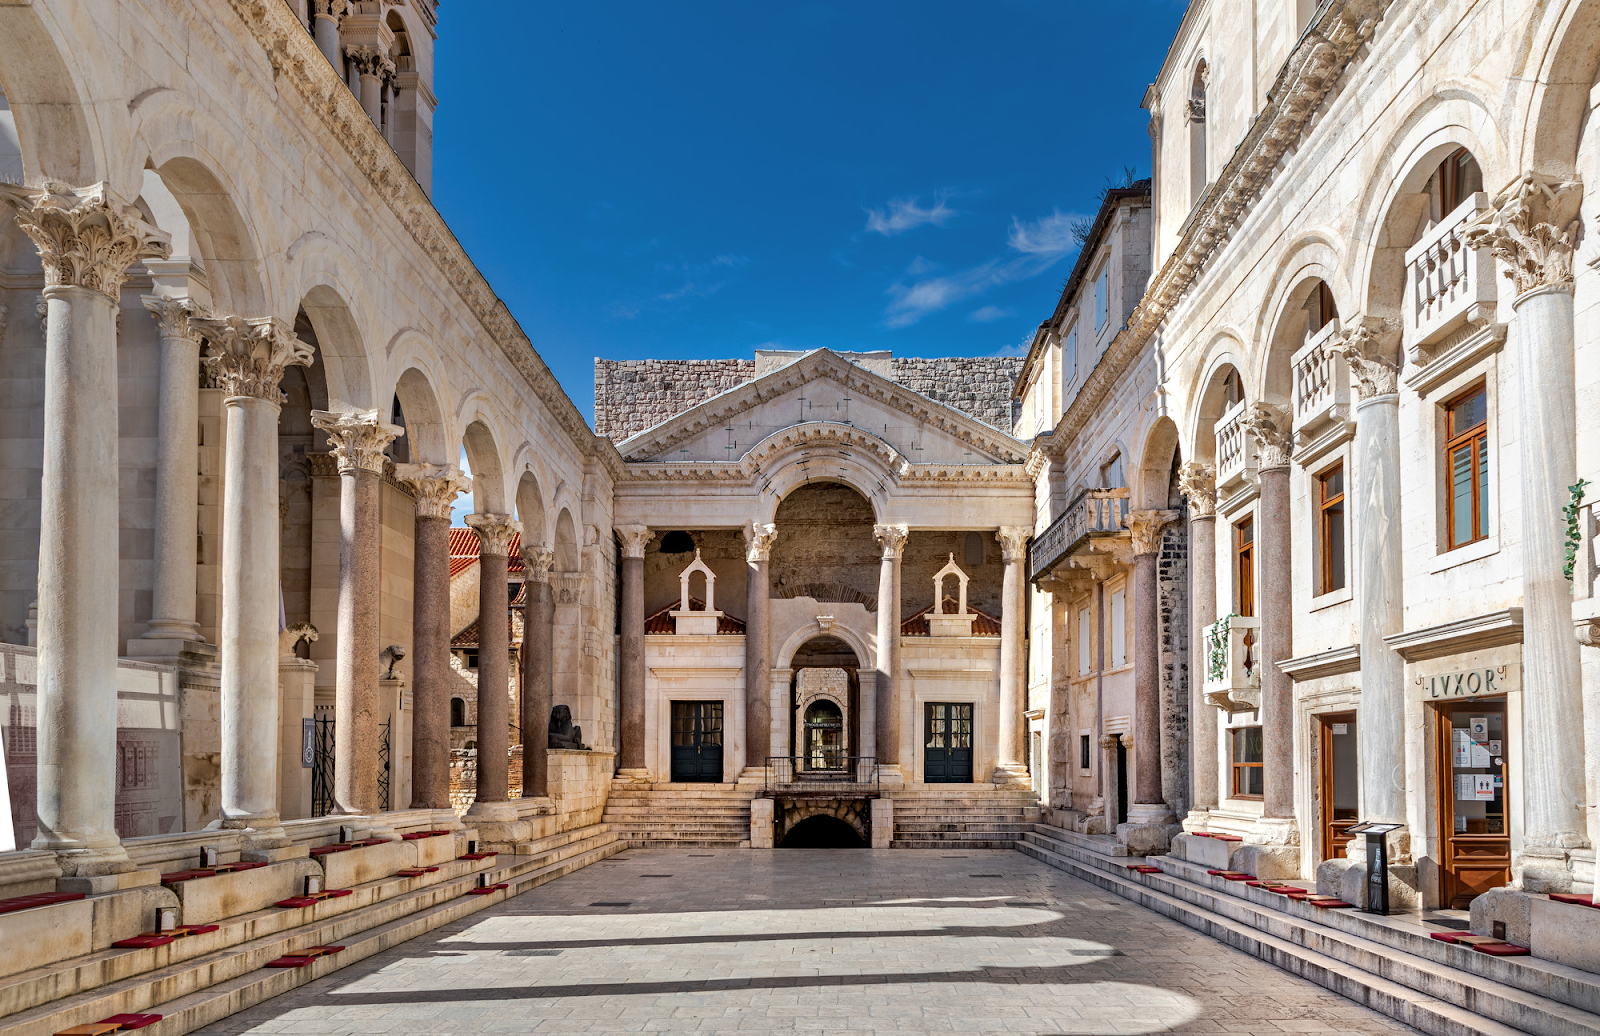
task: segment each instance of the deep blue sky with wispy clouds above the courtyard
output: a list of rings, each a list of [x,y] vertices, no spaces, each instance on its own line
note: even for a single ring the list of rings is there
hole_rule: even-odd
[[[445,3],[434,201],[589,416],[595,357],[1016,350],[1182,8]]]

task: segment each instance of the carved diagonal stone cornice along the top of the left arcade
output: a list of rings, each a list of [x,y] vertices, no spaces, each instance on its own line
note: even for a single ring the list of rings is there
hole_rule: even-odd
[[[285,80],[299,93],[573,443],[584,452],[594,451],[597,436],[589,422],[566,396],[526,333],[474,265],[432,200],[384,139],[382,131],[368,118],[362,102],[317,50],[288,3],[285,0],[229,0],[229,3],[266,51],[280,93]]]

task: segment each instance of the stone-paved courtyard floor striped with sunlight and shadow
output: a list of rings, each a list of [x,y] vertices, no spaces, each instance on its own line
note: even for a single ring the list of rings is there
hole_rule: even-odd
[[[200,1030],[1413,1033],[1010,851],[624,852]]]

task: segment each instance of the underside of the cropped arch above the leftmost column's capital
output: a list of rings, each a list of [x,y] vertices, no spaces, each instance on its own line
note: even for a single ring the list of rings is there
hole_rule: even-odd
[[[107,177],[106,161],[46,13],[43,5],[0,5],[0,91],[16,120],[24,182],[83,187]]]

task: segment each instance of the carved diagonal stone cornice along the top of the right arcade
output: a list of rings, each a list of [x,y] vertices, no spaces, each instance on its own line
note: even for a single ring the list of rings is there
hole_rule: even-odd
[[[1238,219],[1270,185],[1274,169],[1306,134],[1312,117],[1362,45],[1373,37],[1392,2],[1333,0],[1301,35],[1245,139],[1234,149],[1232,158],[1190,214],[1173,254],[1133,307],[1128,326],[1106,347],[1072,406],[1056,424],[1050,444],[1054,456],[1059,457],[1090,417],[1101,412],[1106,396],[1200,280],[1206,262],[1232,237]]]

